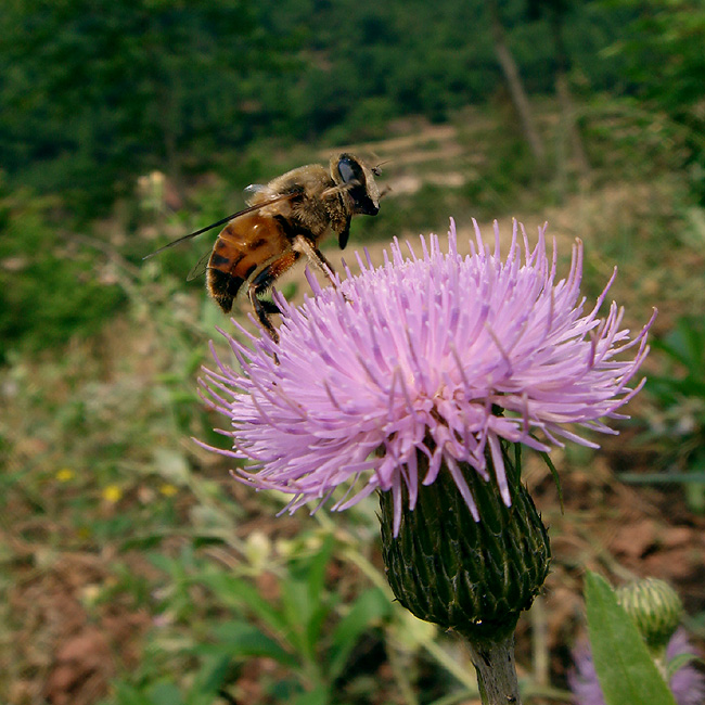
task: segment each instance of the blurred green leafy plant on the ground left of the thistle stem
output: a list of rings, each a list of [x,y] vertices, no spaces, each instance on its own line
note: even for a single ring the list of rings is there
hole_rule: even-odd
[[[184,627],[200,617],[189,599],[193,587],[207,589],[213,604],[219,605],[219,618],[211,619],[205,633],[193,634],[190,643],[182,644],[182,654],[197,664],[187,693],[178,679],[165,678],[146,662],[117,684],[112,703],[158,705],[165,690],[171,693],[171,703],[211,703],[242,677],[252,658],[272,659],[287,674],[266,685],[274,702],[358,702],[349,693],[355,691],[356,678],[366,676],[360,656],[366,650],[379,649],[392,619],[388,597],[372,588],[341,604],[341,595],[330,586],[331,573],[339,569],[332,551],[341,547],[335,547],[330,534],[302,536],[286,546],[287,557],[273,555],[264,535],[254,539],[249,542],[253,563],[243,563],[234,572],[191,553],[176,559],[153,555],[169,586],[159,608],[176,617],[170,628],[164,626],[155,633],[156,640],[168,640],[169,632],[189,633]],[[271,594],[267,597],[257,587],[262,577],[270,578]],[[376,637],[375,630],[380,632]],[[356,659],[352,652],[362,637],[367,643]],[[374,661],[369,665],[376,667]]]

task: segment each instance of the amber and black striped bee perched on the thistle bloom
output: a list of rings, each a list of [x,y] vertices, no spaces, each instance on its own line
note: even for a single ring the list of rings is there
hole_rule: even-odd
[[[202,257],[189,280],[205,272],[208,293],[226,313],[246,287],[255,316],[270,337],[279,342],[270,318],[280,312],[279,308],[262,295],[302,256],[335,285],[333,267],[319,243],[332,232],[343,249],[352,216],[377,214],[376,176],[379,166],[369,167],[347,152],[333,156],[328,168],[308,164],[292,169],[267,184],[247,187],[244,210],[179,238],[144,259],[227,223],[213,251]]]

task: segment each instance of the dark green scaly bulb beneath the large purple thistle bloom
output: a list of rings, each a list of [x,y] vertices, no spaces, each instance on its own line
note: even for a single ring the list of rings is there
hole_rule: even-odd
[[[459,464],[479,521],[446,467],[432,485],[419,486],[396,538],[392,493],[381,493],[383,556],[396,598],[420,619],[474,641],[511,634],[549,572],[548,533],[505,449],[503,457],[510,507],[493,479]],[[422,462],[420,453],[420,472]]]

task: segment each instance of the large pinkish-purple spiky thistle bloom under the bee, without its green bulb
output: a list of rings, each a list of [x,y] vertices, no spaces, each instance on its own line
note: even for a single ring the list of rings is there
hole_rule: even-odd
[[[279,344],[236,323],[252,347],[220,331],[241,370],[214,350],[217,370],[206,370],[202,384],[232,422],[233,450],[220,452],[252,461],[240,479],[293,495],[291,512],[309,500],[320,507],[338,486],[347,491],[334,510],[392,491],[396,535],[402,486],[412,510],[419,483],[439,472],[451,474],[479,521],[459,462],[489,479],[489,456],[509,505],[501,438],[549,451],[562,439],[597,447],[568,424],[614,433],[602,419],[624,418],[617,409],[641,388],[643,381],[628,385],[646,356],[653,317],[630,339],[616,304],[599,316],[614,274],[584,311],[579,241],[568,275],[557,280],[543,228],[531,249],[514,223],[505,259],[497,225],[493,252],[477,223],[475,233],[466,257],[451,220],[448,253],[436,235],[421,238],[421,254],[407,243],[407,256],[395,240],[382,267],[358,255],[361,273],[346,267],[337,289],[309,277],[315,296],[302,306],[275,297]],[[423,476],[419,451],[428,458]]]

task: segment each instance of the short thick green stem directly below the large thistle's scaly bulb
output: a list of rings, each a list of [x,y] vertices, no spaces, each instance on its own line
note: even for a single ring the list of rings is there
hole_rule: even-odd
[[[514,665],[514,634],[500,641],[467,639],[483,705],[521,705]]]

